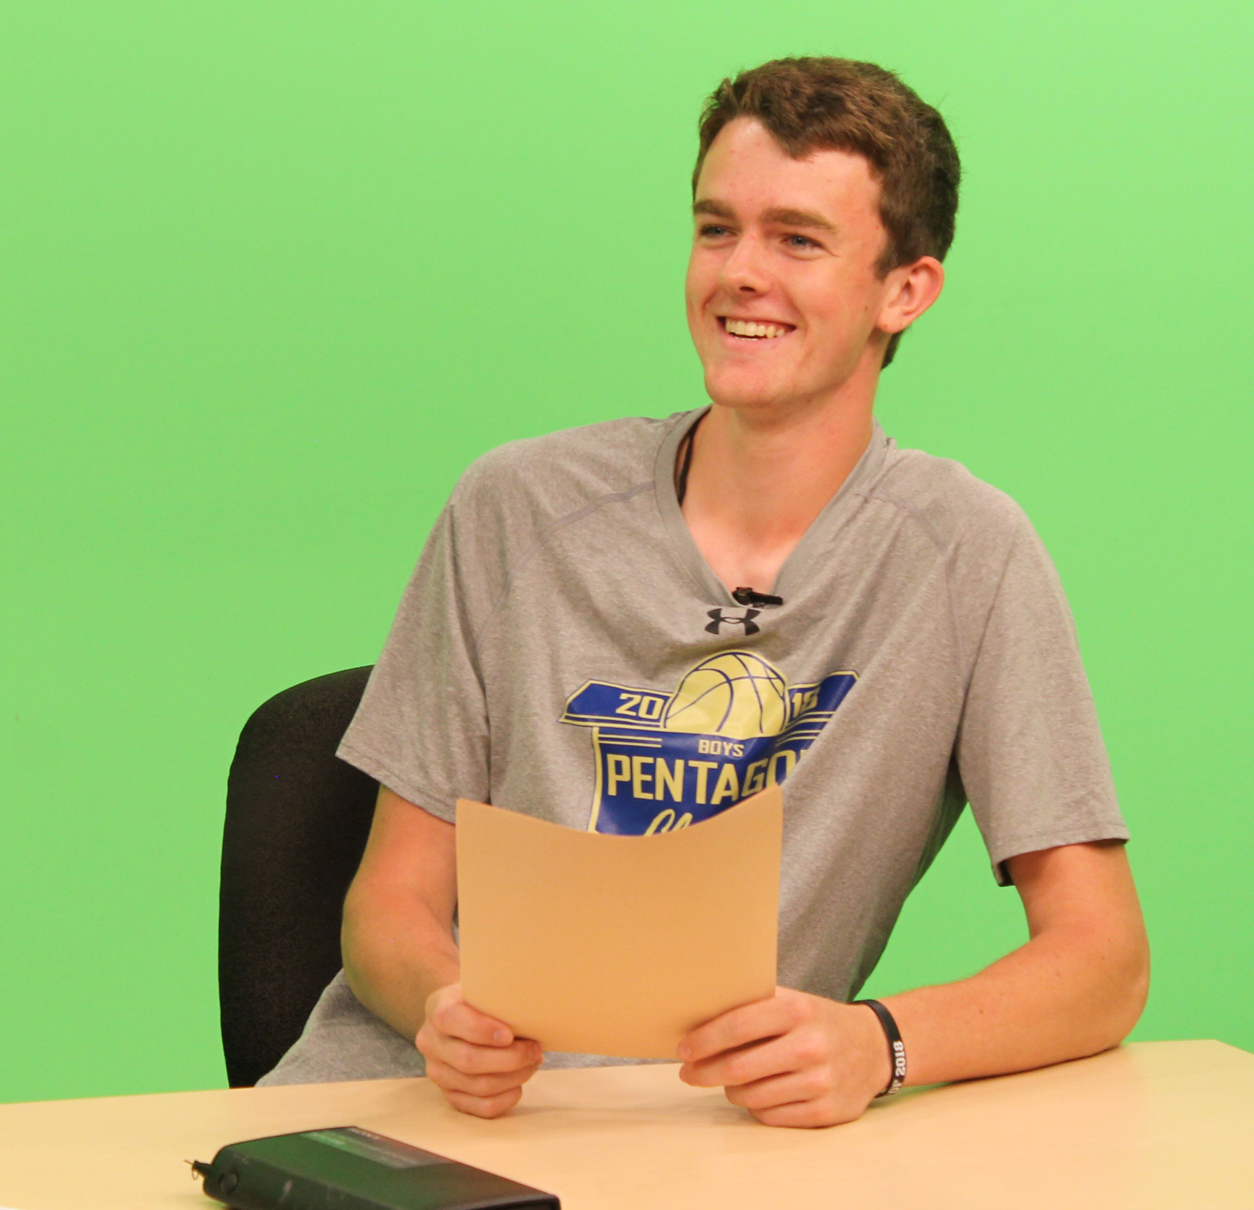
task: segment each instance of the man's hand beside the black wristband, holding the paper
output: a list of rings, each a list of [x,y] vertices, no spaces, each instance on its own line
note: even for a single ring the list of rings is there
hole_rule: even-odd
[[[766,1126],[851,1122],[890,1075],[884,1031],[869,1008],[786,987],[697,1027],[678,1057],[685,1083],[722,1086]]]

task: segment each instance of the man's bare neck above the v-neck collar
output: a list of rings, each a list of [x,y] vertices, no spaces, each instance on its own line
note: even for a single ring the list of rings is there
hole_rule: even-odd
[[[683,515],[719,578],[766,592],[861,458],[872,397],[791,409],[715,404],[697,429]]]

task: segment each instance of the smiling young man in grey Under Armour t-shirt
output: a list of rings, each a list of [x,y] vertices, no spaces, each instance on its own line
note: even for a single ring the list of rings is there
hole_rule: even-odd
[[[782,987],[678,1053],[762,1122],[860,1115],[893,1082],[893,1019],[912,1083],[1132,1027],[1145,933],[1053,568],[1009,499],[872,415],[940,292],[957,186],[939,114],[873,65],[780,60],[716,90],[687,277],[711,406],[515,443],[461,479],[341,747],[382,785],[345,974],[266,1082],[425,1057],[460,1110],[518,1101],[545,1056],[458,987],[458,796],[642,834],[784,782]],[[968,800],[1031,939],[848,1003]]]

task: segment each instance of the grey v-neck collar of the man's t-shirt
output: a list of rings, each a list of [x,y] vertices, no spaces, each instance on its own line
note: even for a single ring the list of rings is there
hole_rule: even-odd
[[[736,602],[732,599],[731,591],[715,576],[714,568],[697,548],[675,492],[675,458],[680,443],[709,410],[710,408],[706,406],[686,413],[671,426],[657,450],[653,464],[653,484],[662,527],[671,539],[680,563],[683,564],[685,571],[711,604],[735,608]],[[853,470],[845,476],[845,481],[840,484],[831,499],[823,505],[819,515],[810,523],[810,528],[801,535],[800,542],[789,552],[789,557],[775,577],[775,584],[770,588],[762,588],[762,592],[771,592],[782,597],[785,603],[788,602],[789,594],[801,583],[814,554],[840,527],[848,502],[856,495],[860,485],[870,483],[879,473],[884,464],[888,444],[888,436],[879,426],[879,421],[873,421],[870,441],[863,450],[861,458],[854,464]]]

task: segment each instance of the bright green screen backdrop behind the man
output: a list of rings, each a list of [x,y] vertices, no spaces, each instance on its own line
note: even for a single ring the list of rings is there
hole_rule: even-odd
[[[1251,50],[1224,0],[10,0],[0,1100],[224,1082],[241,725],[372,662],[483,450],[703,401],[695,119],[784,54],[952,125],[949,285],[880,416],[1058,564],[1154,943],[1135,1037],[1254,1047]],[[968,816],[872,994],[1021,920]]]

